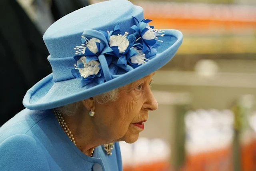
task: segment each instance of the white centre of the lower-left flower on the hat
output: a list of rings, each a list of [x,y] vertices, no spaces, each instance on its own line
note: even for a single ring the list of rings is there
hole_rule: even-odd
[[[83,64],[84,68],[78,67],[78,65],[81,63]],[[81,76],[83,78],[87,78],[88,76],[98,74],[98,72],[100,71],[99,65],[100,63],[95,60],[91,60],[90,62],[86,63],[86,57],[83,56],[77,61],[77,65],[75,66],[76,66],[76,69],[79,70],[79,73],[81,74]]]

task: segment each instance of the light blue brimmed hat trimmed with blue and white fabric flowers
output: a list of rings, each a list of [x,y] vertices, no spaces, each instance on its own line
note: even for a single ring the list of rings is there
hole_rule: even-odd
[[[169,62],[182,43],[177,30],[157,30],[143,9],[110,0],[72,12],[43,36],[52,74],[30,88],[23,104],[42,110],[132,83]]]

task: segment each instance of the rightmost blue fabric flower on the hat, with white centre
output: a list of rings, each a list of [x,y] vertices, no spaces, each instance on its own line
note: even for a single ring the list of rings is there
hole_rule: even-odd
[[[164,31],[154,29],[154,26],[148,25],[152,20],[144,19],[139,22],[138,18],[133,18],[135,25],[133,25],[131,29],[137,34],[138,38],[136,42],[142,43],[142,52],[144,52],[146,56],[154,56],[156,54],[155,48],[158,48],[160,46],[159,42],[162,42],[162,40],[158,40],[158,36],[164,36],[164,34],[162,34]]]

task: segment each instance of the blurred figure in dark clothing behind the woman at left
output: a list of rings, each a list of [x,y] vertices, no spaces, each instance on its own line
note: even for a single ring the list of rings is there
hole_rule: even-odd
[[[49,53],[42,40],[48,25],[89,4],[87,0],[51,0],[51,14],[46,15],[42,13],[48,12],[42,6],[43,1],[33,1],[41,10],[36,22],[16,0],[0,1],[0,126],[24,108],[22,99],[26,91],[52,72],[47,60]]]

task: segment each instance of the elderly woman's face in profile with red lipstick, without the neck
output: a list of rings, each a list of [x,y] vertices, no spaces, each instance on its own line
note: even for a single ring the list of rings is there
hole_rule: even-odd
[[[94,120],[100,137],[127,143],[138,139],[144,129],[142,121],[148,119],[148,111],[158,108],[150,89],[153,76],[154,73],[120,88],[114,102],[95,104]]]

